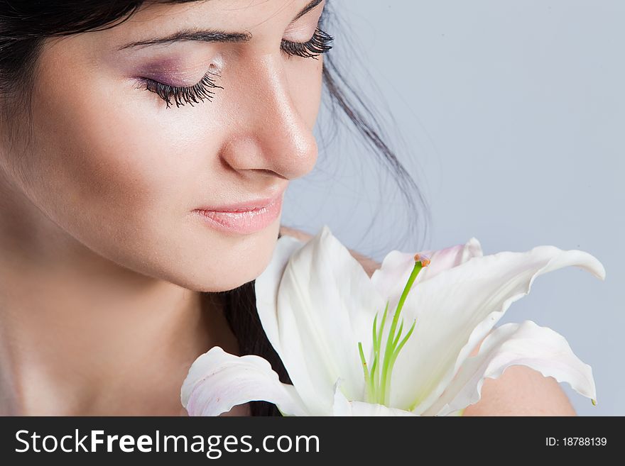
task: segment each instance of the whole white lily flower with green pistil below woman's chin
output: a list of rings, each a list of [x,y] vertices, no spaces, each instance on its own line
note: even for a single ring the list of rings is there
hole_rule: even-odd
[[[190,416],[254,400],[285,416],[456,416],[479,401],[485,377],[526,365],[596,404],[592,368],[562,335],[533,321],[491,331],[538,275],[570,265],[605,277],[580,250],[484,256],[471,238],[392,251],[370,278],[327,226],[308,242],[283,236],[256,279],[256,306],[293,384],[262,357],[215,346],[193,362],[180,399]]]

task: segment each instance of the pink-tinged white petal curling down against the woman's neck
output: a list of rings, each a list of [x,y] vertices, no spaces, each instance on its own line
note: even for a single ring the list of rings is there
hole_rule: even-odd
[[[219,416],[255,400],[276,404],[285,416],[308,415],[293,386],[280,382],[267,360],[231,355],[219,346],[193,362],[180,389],[189,416]]]

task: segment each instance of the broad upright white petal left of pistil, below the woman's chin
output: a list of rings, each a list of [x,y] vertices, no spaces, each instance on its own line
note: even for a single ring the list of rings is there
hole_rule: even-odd
[[[295,389],[312,414],[323,414],[338,377],[351,399],[364,396],[358,342],[369,355],[374,315],[385,303],[327,226],[284,251],[282,240],[276,261],[256,279],[256,306]]]

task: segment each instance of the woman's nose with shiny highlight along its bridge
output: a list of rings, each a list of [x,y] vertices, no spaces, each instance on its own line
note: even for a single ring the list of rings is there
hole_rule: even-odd
[[[317,161],[312,126],[318,101],[315,106],[310,96],[298,99],[280,60],[279,54],[249,60],[251,64],[241,70],[246,78],[237,79],[237,87],[230,89],[232,128],[220,155],[244,176],[257,177],[269,170],[295,179],[310,172]]]

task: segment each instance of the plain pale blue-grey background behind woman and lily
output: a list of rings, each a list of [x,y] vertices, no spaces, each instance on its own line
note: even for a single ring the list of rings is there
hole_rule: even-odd
[[[531,319],[565,335],[597,384],[597,406],[561,384],[577,414],[625,415],[625,1],[329,6],[343,23],[327,27],[331,53],[381,112],[430,218],[401,210],[362,138],[328,138],[336,121],[324,106],[320,160],[289,188],[283,224],[327,224],[376,260],[472,236],[485,254],[543,244],[591,253],[604,282],[574,267],[542,275],[499,325]]]

